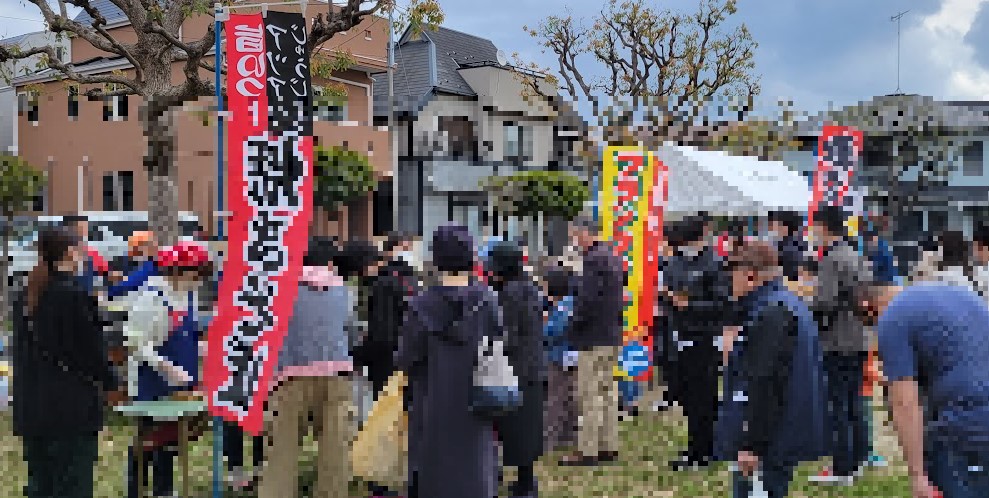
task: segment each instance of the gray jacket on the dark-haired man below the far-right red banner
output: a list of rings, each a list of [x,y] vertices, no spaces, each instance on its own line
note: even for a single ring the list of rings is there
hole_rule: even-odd
[[[865,326],[853,310],[857,287],[870,281],[868,262],[847,241],[836,242],[825,251],[811,306],[825,353],[869,350]]]

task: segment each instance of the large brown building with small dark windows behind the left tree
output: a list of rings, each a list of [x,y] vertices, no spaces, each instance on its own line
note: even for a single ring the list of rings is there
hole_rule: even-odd
[[[126,16],[109,0],[94,0],[93,4],[107,19],[107,29],[114,38],[124,42],[135,40]],[[326,8],[325,2],[311,1],[306,16],[312,18]],[[298,7],[271,7],[271,10],[293,9]],[[91,22],[85,12],[75,20]],[[190,18],[182,26],[180,38],[183,41],[201,38],[210,22],[209,16]],[[73,38],[71,43],[72,63],[82,74],[132,71],[126,59],[101,52],[81,38]],[[349,52],[356,63],[329,79],[313,80],[317,94],[331,84],[346,89],[345,99],[314,109],[316,143],[344,146],[366,154],[382,180],[391,174],[390,142],[384,127],[373,126],[374,80],[370,75],[387,69],[387,44],[387,20],[365,19],[321,47],[327,55]],[[183,78],[181,64],[173,67],[175,83]],[[205,70],[203,73],[204,78],[212,81],[212,73]],[[89,87],[79,88],[60,81],[53,71],[14,79],[12,85],[19,103],[17,153],[47,172],[46,214],[147,209],[148,182],[142,166],[146,141],[138,121],[139,97],[91,101],[85,97]],[[215,99],[200,99],[178,112],[175,122],[179,209],[197,213],[203,227],[212,232],[216,225],[218,186],[216,116],[209,111],[210,106],[215,106]],[[372,197],[340,213],[318,212],[317,230],[369,236],[375,209]],[[391,210],[390,206],[380,208]]]

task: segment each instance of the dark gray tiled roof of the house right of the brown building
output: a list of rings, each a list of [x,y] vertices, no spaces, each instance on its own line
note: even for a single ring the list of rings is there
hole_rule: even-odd
[[[434,48],[435,61],[430,59],[430,45]],[[497,54],[498,49],[490,40],[452,29],[441,27],[426,31],[417,40],[412,40],[406,33],[395,48],[395,110],[415,114],[426,95],[434,91],[475,96],[458,72],[460,64],[494,62]],[[431,81],[432,72],[435,72],[435,81]],[[387,73],[374,77],[374,101],[374,114],[387,114]]]

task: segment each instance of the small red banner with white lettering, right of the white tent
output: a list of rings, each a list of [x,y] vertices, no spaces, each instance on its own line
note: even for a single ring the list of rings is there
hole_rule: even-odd
[[[852,208],[855,197],[848,194],[862,155],[862,140],[862,132],[849,126],[825,126],[821,130],[813,196],[807,207],[808,228],[813,226],[814,213],[822,206]]]

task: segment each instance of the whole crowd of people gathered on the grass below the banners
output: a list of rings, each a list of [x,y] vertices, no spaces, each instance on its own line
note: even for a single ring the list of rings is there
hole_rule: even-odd
[[[850,237],[841,208],[820,209],[809,228],[798,213],[764,221],[719,231],[701,215],[665,227],[650,383],[665,390],[656,409],[682,408],[689,441],[670,468],[731,462],[736,497],[758,487],[784,497],[798,464],[827,458],[812,480],[850,484],[883,461],[870,404],[881,365],[914,496],[989,496],[989,227],[972,240],[937,234],[901,274],[880,231]],[[92,496],[105,406],[193,395],[206,354],[216,280],[206,248],[159,247],[138,232],[127,264],[109,269],[87,250],[85,225],[72,218],[39,235],[39,264],[15,303],[13,421],[31,498]],[[298,496],[313,429],[314,496],[348,496],[346,455],[365,411],[355,380],[373,399],[399,372],[407,482],[369,482],[374,496],[494,497],[509,466],[511,496],[534,497],[535,464],[550,451],[566,466],[620,460],[620,417],[642,411],[643,390],[615,377],[624,264],[595,220],[574,220],[570,238],[566,256],[533,261],[524,244],[448,225],[422,263],[408,236],[312,237],[266,430],[250,439],[253,471],[245,435],[223,426],[229,483]],[[126,310],[116,342],[105,330],[114,306]],[[479,416],[472,388],[489,339],[504,345],[521,402]],[[139,423],[128,496],[149,474],[155,496],[173,496],[177,426]]]

